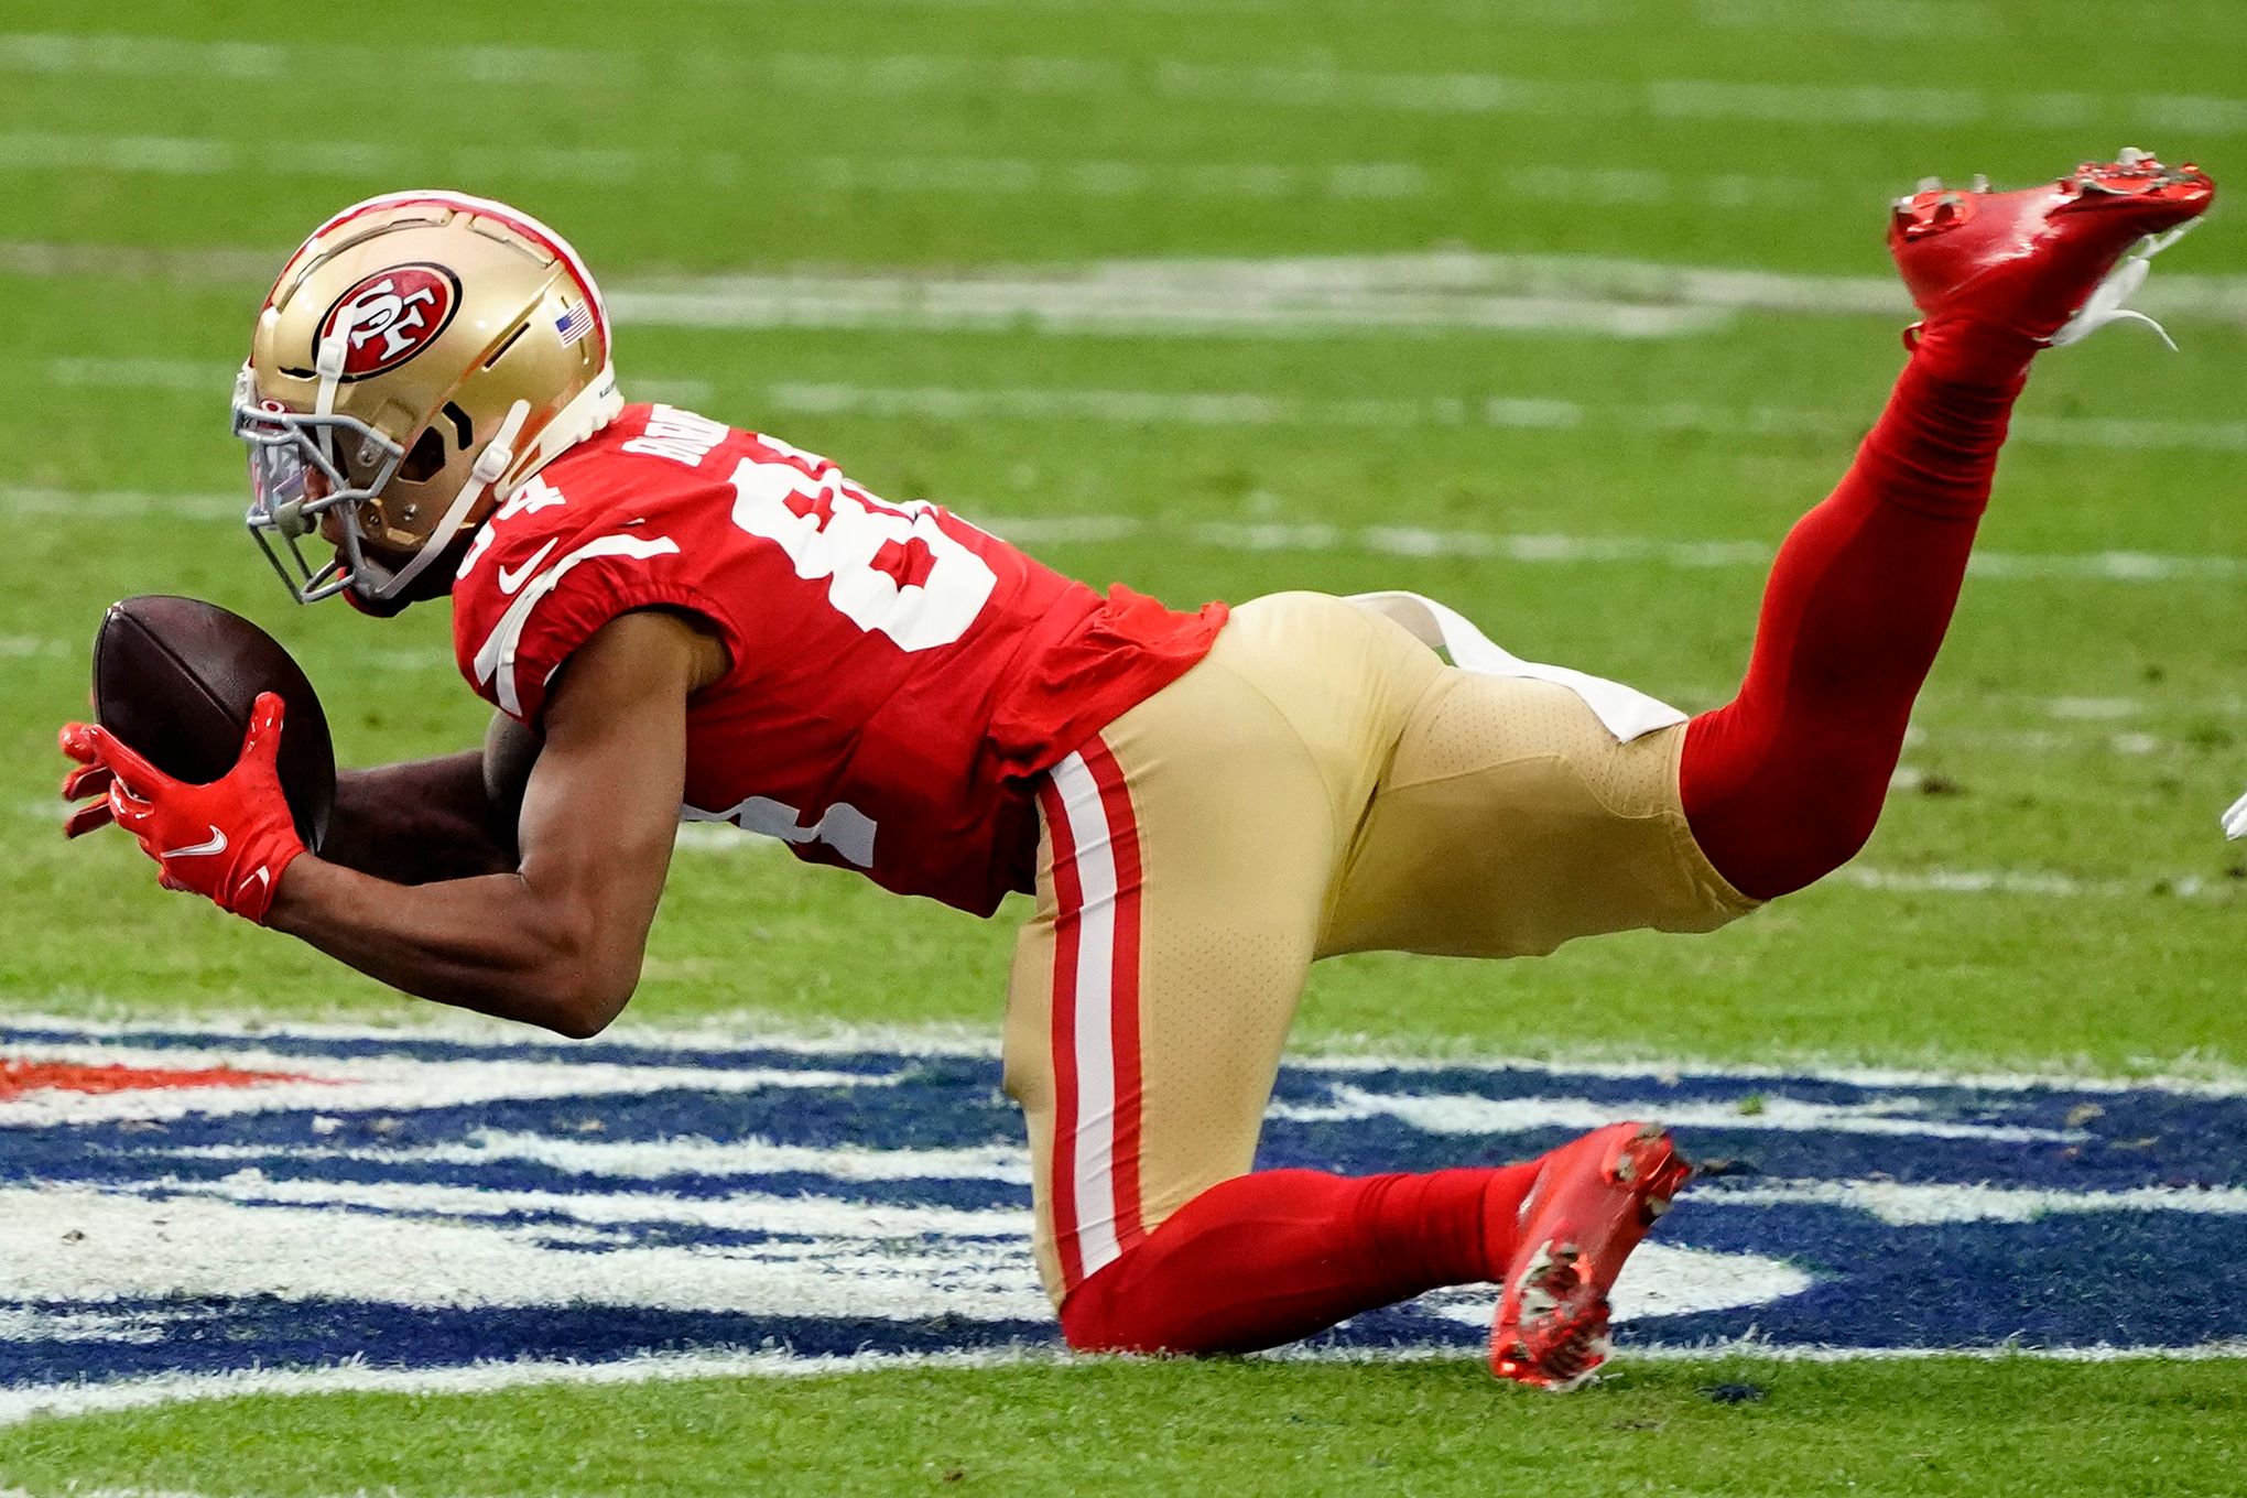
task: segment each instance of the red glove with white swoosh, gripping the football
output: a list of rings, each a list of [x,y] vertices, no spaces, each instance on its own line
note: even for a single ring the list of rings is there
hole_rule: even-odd
[[[63,797],[106,793],[63,822],[79,838],[117,822],[155,858],[166,889],[207,894],[220,910],[263,923],[281,871],[303,851],[281,793],[281,714],[274,692],[249,712],[243,757],[207,786],[164,775],[115,734],[92,723],[65,723],[63,752],[83,768],[63,779]]]

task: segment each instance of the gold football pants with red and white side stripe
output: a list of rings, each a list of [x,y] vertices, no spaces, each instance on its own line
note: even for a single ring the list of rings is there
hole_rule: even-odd
[[[1685,826],[1683,741],[1618,743],[1564,685],[1279,593],[1056,766],[1004,1042],[1054,1300],[1249,1170],[1314,959],[1523,957],[1753,910]]]

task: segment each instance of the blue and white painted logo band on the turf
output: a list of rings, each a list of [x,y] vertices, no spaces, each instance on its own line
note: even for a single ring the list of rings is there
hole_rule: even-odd
[[[1658,1116],[1712,1170],[1625,1350],[2247,1336],[2236,1087],[1303,1062],[1265,1166],[1519,1159]],[[676,1350],[1052,1348],[968,1049],[0,1029],[0,1417],[63,1386]],[[1481,1345],[1492,1294],[1321,1348]]]

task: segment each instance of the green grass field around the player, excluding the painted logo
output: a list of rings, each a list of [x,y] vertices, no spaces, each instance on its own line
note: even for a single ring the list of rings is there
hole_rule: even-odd
[[[0,1004],[36,1015],[420,1017],[162,896],[121,838],[65,844],[52,802],[54,725],[126,593],[274,629],[348,761],[481,732],[440,615],[297,611],[238,526],[229,366],[263,276],[355,198],[519,202],[609,285],[627,395],[782,433],[1090,582],[1177,604],[1416,588],[1692,710],[1730,694],[1768,548],[1901,362],[1901,294],[1878,312],[1807,281],[1887,272],[1887,198],[2121,144],[2247,168],[2247,11],[2213,0],[2139,7],[2123,38],[2083,0],[0,13]],[[1465,292],[1382,321],[1364,285],[1317,314],[1182,310],[1209,258],[1270,290],[1306,256],[1434,254],[1539,256],[1494,272],[1530,326],[1479,326]],[[1795,305],[1618,292],[1593,258],[1771,272]],[[1067,301],[1121,261],[1153,290],[1106,321],[845,294],[1036,272]],[[1427,263],[1368,285],[1400,265]],[[721,272],[789,276],[786,305],[715,296]],[[2177,355],[2119,328],[2025,398],[1989,566],[1852,871],[1705,939],[1326,963],[1301,1042],[2238,1076],[2247,844],[2216,813],[2247,784],[2247,236],[2227,204],[2164,278],[2186,287]],[[1618,310],[1647,321],[1627,337]],[[982,1033],[1007,952],[1004,914],[697,842],[631,1017]],[[1768,1399],[1699,1392],[1723,1381]],[[2218,1494],[2243,1395],[2218,1359],[1663,1363],[1566,1404],[1458,1363],[267,1397],[0,1428],[0,1489]]]

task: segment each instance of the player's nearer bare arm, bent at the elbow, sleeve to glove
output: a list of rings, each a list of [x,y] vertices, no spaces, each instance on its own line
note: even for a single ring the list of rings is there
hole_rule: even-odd
[[[598,1033],[638,986],[685,793],[688,696],[721,667],[681,618],[613,620],[548,694],[519,869],[407,887],[299,856],[265,923],[440,1004]]]

